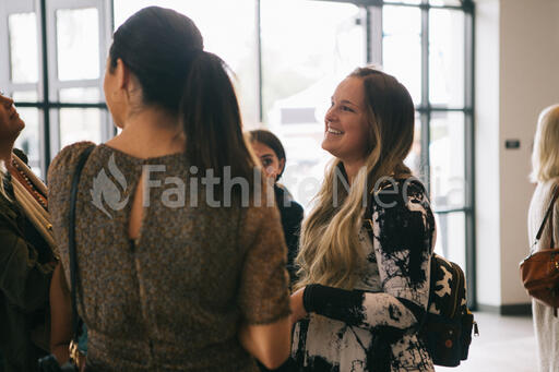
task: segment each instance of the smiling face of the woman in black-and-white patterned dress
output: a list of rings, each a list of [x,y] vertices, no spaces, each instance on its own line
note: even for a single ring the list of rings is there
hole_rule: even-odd
[[[362,81],[349,76],[332,96],[324,117],[322,148],[344,163],[362,161],[368,151],[368,121]]]

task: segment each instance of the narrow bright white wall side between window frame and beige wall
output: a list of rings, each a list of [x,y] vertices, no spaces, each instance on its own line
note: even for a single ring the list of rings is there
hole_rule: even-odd
[[[501,303],[499,219],[499,0],[476,7],[476,290]]]

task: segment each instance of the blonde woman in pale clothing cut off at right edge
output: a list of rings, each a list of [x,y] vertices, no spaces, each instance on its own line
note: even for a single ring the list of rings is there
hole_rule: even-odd
[[[539,115],[534,152],[532,153],[531,179],[537,183],[528,211],[528,238],[535,240],[537,230],[551,201],[554,190],[559,185],[559,105],[546,108]],[[559,241],[559,206],[555,204],[552,224],[547,224],[536,250]],[[559,317],[554,310],[539,302],[532,301],[534,329],[538,349],[540,372],[559,371]]]

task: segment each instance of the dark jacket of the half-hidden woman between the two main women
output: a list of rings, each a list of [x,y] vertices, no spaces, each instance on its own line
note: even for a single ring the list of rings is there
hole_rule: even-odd
[[[293,286],[297,278],[297,267],[295,259],[299,252],[299,236],[302,220],[302,206],[293,200],[287,189],[274,185],[275,201],[282,216],[282,226],[284,228],[285,242],[287,243],[287,272],[289,273],[289,284]]]

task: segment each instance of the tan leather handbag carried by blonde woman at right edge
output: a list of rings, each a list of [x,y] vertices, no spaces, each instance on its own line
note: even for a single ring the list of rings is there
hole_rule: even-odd
[[[536,301],[554,308],[557,316],[559,308],[559,249],[555,247],[554,232],[551,231],[551,248],[534,251],[542,238],[548,219],[554,226],[554,205],[559,196],[559,187],[554,189],[554,197],[549,203],[542,226],[536,235],[536,241],[532,245],[532,253],[520,263],[520,276],[524,288]]]

